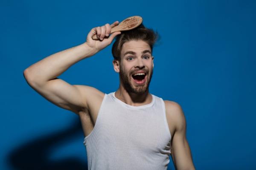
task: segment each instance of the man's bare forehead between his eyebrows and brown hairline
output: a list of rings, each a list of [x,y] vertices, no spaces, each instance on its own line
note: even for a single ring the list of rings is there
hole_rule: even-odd
[[[132,40],[132,41],[125,42],[122,45],[121,56],[123,56],[123,54],[125,54],[125,52],[127,51],[134,51],[135,53],[140,54],[145,50],[151,51],[151,48],[147,42],[142,40]]]

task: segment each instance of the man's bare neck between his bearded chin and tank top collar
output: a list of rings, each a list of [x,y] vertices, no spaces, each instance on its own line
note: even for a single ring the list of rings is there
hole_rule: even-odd
[[[117,89],[115,96],[117,99],[131,106],[147,105],[152,101],[152,96],[149,94],[148,90],[143,94],[136,94],[127,92],[122,85]]]

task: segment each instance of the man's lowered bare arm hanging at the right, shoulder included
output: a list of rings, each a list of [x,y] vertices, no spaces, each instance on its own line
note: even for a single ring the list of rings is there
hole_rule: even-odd
[[[174,124],[172,135],[172,160],[176,170],[195,170],[189,143],[186,140],[186,119],[177,102],[165,101],[169,122]]]

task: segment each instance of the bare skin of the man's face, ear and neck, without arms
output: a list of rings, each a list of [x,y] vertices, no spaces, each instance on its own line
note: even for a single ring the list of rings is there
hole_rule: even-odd
[[[133,51],[135,54],[125,54],[127,51]],[[150,51],[146,53],[142,53],[143,51]],[[148,93],[148,85],[150,82],[150,77],[153,71],[153,59],[151,56],[151,49],[146,42],[141,40],[139,41],[129,41],[123,44],[121,50],[121,61],[113,60],[114,70],[119,74],[120,77],[120,85],[119,89],[116,91],[116,97],[128,105],[140,106],[146,105],[151,102],[152,96]],[[146,82],[143,85],[138,85],[134,82],[132,78],[132,74],[135,71],[145,71],[146,72]],[[121,78],[124,77],[124,78]],[[131,90],[128,91],[125,89],[124,82],[122,79],[127,77],[127,81],[129,82],[129,86]]]

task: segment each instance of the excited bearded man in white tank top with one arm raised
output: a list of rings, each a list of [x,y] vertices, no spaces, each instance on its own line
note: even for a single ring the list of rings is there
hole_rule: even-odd
[[[83,44],[26,68],[26,81],[50,102],[79,115],[88,169],[166,170],[171,154],[176,169],[194,170],[182,108],[148,92],[157,34],[141,24],[110,35],[118,23],[93,28]],[[100,40],[92,39],[95,34]],[[120,78],[116,92],[104,94],[57,78],[71,65],[110,45],[115,37],[113,67]]]

